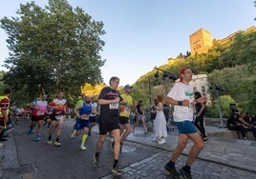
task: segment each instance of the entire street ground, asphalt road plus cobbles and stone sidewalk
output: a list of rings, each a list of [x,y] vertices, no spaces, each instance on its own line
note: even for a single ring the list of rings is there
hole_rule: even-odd
[[[177,129],[168,133],[166,144],[159,145],[152,141],[154,136],[153,132],[144,134],[140,127],[137,128],[135,133],[131,133],[127,141],[123,144],[122,153],[119,157],[119,164],[124,171],[124,174],[117,176],[111,174],[110,171],[112,166],[112,156],[106,157],[106,155],[102,155],[103,165],[100,169],[95,169],[92,165],[91,156],[93,156],[95,152],[96,140],[98,138],[97,126],[94,128],[92,136],[88,140],[88,149],[83,152],[78,150],[76,152],[75,146],[79,144],[78,142],[80,139],[76,138],[73,141],[70,141],[69,139],[69,133],[74,125],[74,121],[70,120],[65,122],[64,133],[62,136],[63,146],[58,149],[53,147],[49,148],[43,141],[37,144],[34,143],[31,139],[32,136],[24,133],[27,131],[26,123],[28,122],[24,122],[24,124],[17,126],[17,129],[13,132],[9,141],[4,143],[0,148],[0,153],[4,156],[4,159],[2,159],[0,163],[0,178],[172,178],[168,171],[163,169],[163,167],[168,162],[169,157],[177,144]],[[47,136],[47,130],[44,130],[45,133],[42,137]],[[208,128],[208,130],[210,129]],[[220,129],[217,128],[216,130]],[[72,144],[72,146],[70,146],[70,144]],[[111,154],[110,144],[111,141],[107,138],[104,152]],[[191,146],[192,143],[189,142],[187,148],[184,149],[177,162],[177,169],[180,169],[185,163],[187,153]],[[51,158],[49,159],[49,157],[45,158],[44,155],[41,156],[34,153],[34,149],[38,148],[40,148],[43,153],[47,153],[48,149],[52,149],[52,152],[60,152],[59,154],[61,156],[65,156],[65,153],[69,153],[69,155],[60,158],[62,161],[61,163],[55,163],[57,162],[55,159],[50,160]],[[38,160],[33,158],[33,155],[39,157]],[[46,155],[50,156],[50,153]],[[69,165],[66,166],[71,162],[69,160],[74,158],[74,160],[78,162],[78,166],[81,166],[85,156],[87,156],[87,158],[90,156],[86,160],[86,169],[80,170],[80,173],[71,173],[74,169],[76,170],[77,167],[70,169]],[[192,176],[194,179],[253,179],[256,178],[255,156],[256,142],[253,140],[238,140],[211,136],[209,137],[208,143],[205,144],[205,148],[192,166]],[[50,165],[49,167],[43,162],[47,160],[51,161],[51,164],[49,161],[47,163]],[[54,171],[53,169],[55,166],[58,165],[62,165],[63,169],[61,170],[61,173],[54,172],[51,174],[51,172]]]

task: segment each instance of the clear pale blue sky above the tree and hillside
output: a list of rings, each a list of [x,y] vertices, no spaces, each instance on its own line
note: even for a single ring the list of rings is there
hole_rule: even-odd
[[[256,25],[254,0],[67,0],[102,21],[106,34],[101,73],[108,84],[112,76],[120,86],[133,85],[140,76],[190,51],[189,35],[201,28],[212,38]],[[0,18],[16,17],[20,3],[28,0],[1,0]],[[44,8],[47,0],[34,0]],[[0,70],[9,56],[6,32],[0,29]]]

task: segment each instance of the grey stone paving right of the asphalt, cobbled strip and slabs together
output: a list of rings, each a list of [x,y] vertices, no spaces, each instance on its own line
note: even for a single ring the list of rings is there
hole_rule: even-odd
[[[219,129],[217,128],[216,130]],[[129,135],[129,142],[126,142],[126,145],[150,149],[156,153],[149,158],[123,168],[125,173],[121,178],[172,178],[163,167],[168,162],[177,144],[177,130],[168,134],[167,143],[164,145],[153,142],[153,136],[154,133],[143,134],[142,129]],[[177,169],[181,169],[185,163],[192,145],[192,142],[189,142],[184,149],[177,162]],[[210,137],[198,159],[193,163],[192,177],[195,179],[255,179],[255,156],[255,141]],[[111,174],[105,176],[104,179],[113,178],[114,176]]]

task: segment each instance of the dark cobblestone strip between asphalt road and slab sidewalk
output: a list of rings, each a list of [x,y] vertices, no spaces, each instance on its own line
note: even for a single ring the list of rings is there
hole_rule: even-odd
[[[150,149],[155,151],[151,157],[143,159],[137,163],[134,163],[128,167],[123,168],[124,174],[121,177],[117,177],[115,174],[111,174],[103,177],[102,179],[110,178],[122,178],[122,179],[165,179],[172,178],[168,171],[163,169],[163,166],[168,162],[170,151],[165,149],[158,149],[150,147],[144,144],[137,144],[129,142],[127,145],[136,146],[138,148]],[[186,155],[181,155],[177,162],[177,169],[181,169],[182,164],[185,163]],[[214,161],[205,161],[203,159],[197,159],[193,163],[192,177],[194,179],[255,179],[256,172],[247,171],[245,169],[238,169],[236,167],[229,167],[216,163]]]

